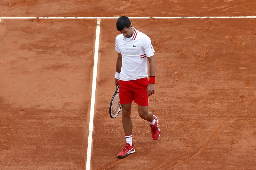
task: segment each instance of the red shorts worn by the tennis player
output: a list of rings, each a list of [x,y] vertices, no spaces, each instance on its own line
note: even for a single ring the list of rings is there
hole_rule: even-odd
[[[119,80],[120,104],[128,104],[134,101],[140,106],[148,106],[148,78],[137,80]]]

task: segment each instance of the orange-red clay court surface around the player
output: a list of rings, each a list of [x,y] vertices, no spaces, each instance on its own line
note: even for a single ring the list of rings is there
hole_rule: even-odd
[[[5,18],[256,16],[255,9],[254,0],[2,0],[0,169],[256,169],[256,18],[131,19],[156,51],[149,109],[161,136],[151,138],[133,104],[136,152],[124,159],[122,116],[108,113],[116,19],[98,18],[92,101],[97,18]]]

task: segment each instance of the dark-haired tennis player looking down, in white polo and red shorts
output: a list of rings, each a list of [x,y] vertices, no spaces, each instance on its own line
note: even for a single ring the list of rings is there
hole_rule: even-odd
[[[121,34],[116,36],[115,50],[118,56],[115,84],[119,84],[122,123],[126,138],[126,145],[117,156],[125,158],[135,152],[132,143],[132,101],[138,105],[139,116],[149,122],[152,138],[157,140],[160,136],[157,117],[148,111],[149,96],[155,93],[155,50],[150,38],[136,30],[128,17],[119,17],[116,28]]]

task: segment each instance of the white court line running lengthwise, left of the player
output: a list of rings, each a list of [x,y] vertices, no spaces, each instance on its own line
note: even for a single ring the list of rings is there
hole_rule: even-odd
[[[90,170],[90,164],[91,164],[92,130],[93,130],[93,116],[94,116],[95,93],[96,93],[96,79],[97,79],[97,67],[98,67],[99,42],[100,42],[100,18],[97,18],[95,50],[94,50],[94,64],[93,64],[93,76],[92,76],[92,98],[91,98],[89,135],[88,135],[88,145],[87,145],[86,170]]]

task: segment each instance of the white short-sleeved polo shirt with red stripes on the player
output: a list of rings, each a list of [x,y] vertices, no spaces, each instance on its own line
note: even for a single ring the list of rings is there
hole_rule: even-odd
[[[148,77],[147,57],[154,55],[150,38],[135,30],[131,38],[123,34],[116,36],[115,50],[122,54],[122,69],[120,80],[137,80]]]

